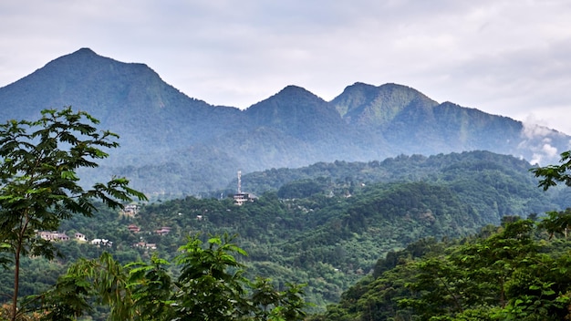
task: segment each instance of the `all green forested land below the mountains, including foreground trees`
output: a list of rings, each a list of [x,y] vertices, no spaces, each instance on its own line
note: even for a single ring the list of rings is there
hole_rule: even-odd
[[[571,212],[557,184],[571,181],[571,152],[531,170],[484,151],[320,163],[259,197],[148,202],[124,178],[80,185],[76,170],[118,146],[89,122],[67,108],[0,125],[9,320],[568,314]]]

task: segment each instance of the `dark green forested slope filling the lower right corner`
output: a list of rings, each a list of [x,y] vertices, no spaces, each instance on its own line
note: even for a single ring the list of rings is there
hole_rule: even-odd
[[[571,211],[535,219],[389,252],[310,320],[568,320]]]

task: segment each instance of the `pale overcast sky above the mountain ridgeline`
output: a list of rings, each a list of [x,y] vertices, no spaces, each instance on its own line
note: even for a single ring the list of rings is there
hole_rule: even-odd
[[[213,105],[391,82],[571,134],[568,0],[18,0],[0,31],[0,87],[89,47]]]

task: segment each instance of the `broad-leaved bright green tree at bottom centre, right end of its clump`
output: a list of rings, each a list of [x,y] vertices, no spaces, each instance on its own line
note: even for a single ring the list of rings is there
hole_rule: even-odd
[[[233,254],[246,255],[224,234],[213,237],[204,248],[197,237],[189,238],[176,258],[182,265],[175,283],[175,314],[182,320],[302,320],[306,307],[299,285],[277,291],[268,279],[249,281],[244,265]]]

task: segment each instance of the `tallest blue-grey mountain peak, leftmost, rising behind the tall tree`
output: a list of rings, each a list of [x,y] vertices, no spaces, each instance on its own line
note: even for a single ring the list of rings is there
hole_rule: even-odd
[[[1,88],[0,102],[0,119],[36,119],[41,109],[63,106],[88,111],[101,129],[119,133],[121,148],[113,152],[122,156],[111,158],[115,164],[135,158],[156,161],[151,151],[176,150],[221,135],[241,117],[239,109],[187,97],[146,65],[100,57],[88,48]],[[128,161],[121,161],[124,157]]]

